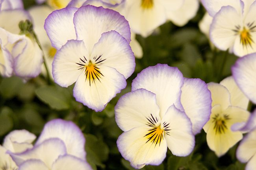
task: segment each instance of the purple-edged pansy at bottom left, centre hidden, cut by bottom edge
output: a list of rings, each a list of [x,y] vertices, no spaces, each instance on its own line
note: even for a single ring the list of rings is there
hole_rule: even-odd
[[[46,123],[35,146],[21,153],[8,152],[19,170],[91,170],[85,161],[85,138],[71,121]]]

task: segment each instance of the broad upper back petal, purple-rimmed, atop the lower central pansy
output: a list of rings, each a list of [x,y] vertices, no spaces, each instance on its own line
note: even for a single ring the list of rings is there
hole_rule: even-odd
[[[171,105],[180,110],[183,107],[180,103],[183,75],[176,67],[169,67],[167,64],[157,64],[141,71],[132,81],[132,91],[136,89],[147,89],[156,94],[156,101],[160,107],[162,118]]]

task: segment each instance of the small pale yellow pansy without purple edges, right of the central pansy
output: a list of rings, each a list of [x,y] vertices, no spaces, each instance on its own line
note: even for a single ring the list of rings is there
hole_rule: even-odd
[[[236,123],[245,123],[250,113],[246,110],[249,99],[228,77],[218,83],[208,83],[212,108],[210,120],[204,125],[209,148],[220,157],[243,138],[243,132],[233,131]]]

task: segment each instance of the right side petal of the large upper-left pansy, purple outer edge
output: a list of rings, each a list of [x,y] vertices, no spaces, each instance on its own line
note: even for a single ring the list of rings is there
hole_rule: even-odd
[[[115,68],[127,79],[135,69],[135,57],[129,43],[116,31],[103,33],[94,45],[91,58],[102,55],[102,65]]]

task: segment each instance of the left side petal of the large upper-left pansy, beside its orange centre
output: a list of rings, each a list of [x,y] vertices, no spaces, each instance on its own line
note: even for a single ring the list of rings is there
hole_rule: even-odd
[[[80,65],[84,58],[89,59],[89,54],[84,46],[83,41],[69,40],[56,53],[52,63],[52,75],[54,81],[61,87],[72,85],[82,70]]]

